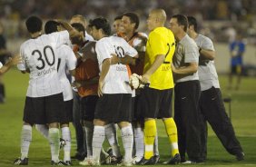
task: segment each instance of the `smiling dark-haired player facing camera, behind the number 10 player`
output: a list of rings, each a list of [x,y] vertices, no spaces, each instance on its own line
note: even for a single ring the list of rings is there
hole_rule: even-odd
[[[139,17],[134,13],[125,13],[122,16],[121,33],[118,35],[123,37],[125,41],[128,42],[133,48],[139,53],[139,58],[136,59],[135,64],[130,61],[132,74],[143,74],[143,63],[145,54],[145,45],[147,41],[147,35],[143,33],[136,32],[139,26]],[[125,57],[126,58],[126,57]],[[121,59],[121,63],[125,59]],[[140,90],[133,89],[133,100],[132,100],[132,124],[133,124],[133,135],[134,135],[134,145],[133,145],[133,164],[138,164],[143,159],[144,155],[144,134],[143,134],[143,112],[140,108]],[[156,149],[158,150],[158,149]],[[158,156],[154,156],[156,162],[159,160]]]

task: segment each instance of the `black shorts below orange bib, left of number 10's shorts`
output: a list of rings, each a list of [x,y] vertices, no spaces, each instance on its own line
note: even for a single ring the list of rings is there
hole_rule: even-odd
[[[84,121],[94,121],[94,113],[96,103],[99,97],[97,95],[89,95],[81,98],[81,119]]]

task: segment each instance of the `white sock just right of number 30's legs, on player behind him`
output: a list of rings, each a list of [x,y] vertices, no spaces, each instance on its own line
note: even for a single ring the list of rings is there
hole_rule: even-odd
[[[62,128],[62,138],[65,141],[64,145],[64,162],[70,161],[70,150],[71,150],[71,133],[69,127]]]

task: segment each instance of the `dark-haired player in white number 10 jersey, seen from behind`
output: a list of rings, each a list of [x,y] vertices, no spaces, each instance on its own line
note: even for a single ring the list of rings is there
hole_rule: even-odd
[[[123,38],[109,36],[111,27],[105,18],[96,18],[90,22],[92,35],[98,40],[95,46],[100,79],[98,95],[100,96],[94,114],[93,159],[87,165],[99,164],[100,152],[104,141],[104,125],[118,123],[121,128],[124,165],[132,164],[133,129],[131,126],[132,89],[129,85],[129,67],[124,64],[111,65],[112,54],[123,57],[125,54],[137,56],[133,47]],[[109,37],[108,37],[109,36]],[[113,103],[116,103],[113,105]],[[84,163],[84,165],[86,165]]]

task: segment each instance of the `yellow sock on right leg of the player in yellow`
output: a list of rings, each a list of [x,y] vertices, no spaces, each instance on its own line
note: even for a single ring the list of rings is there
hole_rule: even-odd
[[[172,145],[172,157],[179,153],[179,147],[178,147],[178,135],[177,135],[177,127],[176,123],[174,122],[173,118],[167,118],[163,121],[165,125],[166,133],[169,137],[169,142]]]

